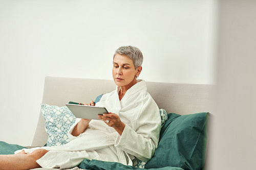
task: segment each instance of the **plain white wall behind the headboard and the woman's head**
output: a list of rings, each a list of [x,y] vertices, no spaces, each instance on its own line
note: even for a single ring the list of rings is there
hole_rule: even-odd
[[[214,0],[0,0],[0,140],[30,145],[45,76],[112,79],[135,45],[146,81],[214,83]]]

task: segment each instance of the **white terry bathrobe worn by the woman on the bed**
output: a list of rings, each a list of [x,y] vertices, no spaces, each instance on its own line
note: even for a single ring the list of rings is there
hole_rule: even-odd
[[[70,142],[58,147],[41,147],[49,150],[36,162],[45,168],[71,168],[83,159],[120,162],[133,165],[132,160],[149,160],[157,147],[161,127],[159,108],[146,91],[144,81],[138,81],[119,100],[116,90],[104,94],[96,106],[104,106],[109,112],[118,114],[125,124],[120,136],[114,128],[102,120],[91,120],[86,131],[75,137],[71,135],[76,123],[69,131]],[[31,153],[39,148],[24,149]],[[19,151],[16,151],[18,153]]]

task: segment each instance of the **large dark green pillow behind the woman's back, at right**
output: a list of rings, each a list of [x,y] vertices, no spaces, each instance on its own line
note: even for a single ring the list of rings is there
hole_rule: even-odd
[[[205,160],[208,113],[168,114],[160,132],[158,148],[145,168],[165,166],[202,169]]]

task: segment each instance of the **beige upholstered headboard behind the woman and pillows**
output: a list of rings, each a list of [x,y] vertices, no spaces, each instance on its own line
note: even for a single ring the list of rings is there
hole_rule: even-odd
[[[210,112],[212,85],[146,82],[147,91],[160,109],[167,113],[190,114]],[[113,91],[113,80],[46,77],[42,103],[65,106],[66,103],[90,102],[102,93]],[[47,141],[45,120],[39,116],[33,146]]]

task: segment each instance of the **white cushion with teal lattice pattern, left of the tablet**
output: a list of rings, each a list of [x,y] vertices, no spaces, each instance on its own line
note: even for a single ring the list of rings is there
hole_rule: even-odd
[[[41,113],[46,120],[45,129],[49,135],[47,147],[68,143],[68,131],[76,119],[68,107],[41,104]]]

